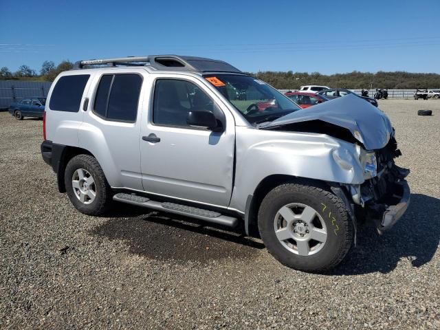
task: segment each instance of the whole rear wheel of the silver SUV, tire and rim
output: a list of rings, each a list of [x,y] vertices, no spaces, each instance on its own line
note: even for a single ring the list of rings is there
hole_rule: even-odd
[[[83,173],[83,179],[80,173]],[[81,213],[98,216],[111,207],[113,194],[95,157],[77,155],[70,159],[65,168],[64,181],[67,196]]]

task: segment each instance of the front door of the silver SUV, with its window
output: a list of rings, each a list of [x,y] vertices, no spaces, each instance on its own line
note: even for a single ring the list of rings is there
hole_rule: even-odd
[[[228,206],[234,170],[232,114],[199,80],[184,76],[153,81],[148,120],[142,122],[144,190],[157,195]],[[186,123],[189,111],[211,111],[223,122],[214,132]],[[155,137],[155,142],[148,137]]]

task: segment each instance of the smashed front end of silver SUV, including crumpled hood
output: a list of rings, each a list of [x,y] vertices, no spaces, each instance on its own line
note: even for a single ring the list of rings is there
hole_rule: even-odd
[[[410,188],[405,177],[409,170],[394,162],[401,153],[393,126],[385,113],[368,102],[344,96],[290,113],[259,129],[325,134],[354,145],[355,155],[348,157],[350,152],[344,148],[335,148],[332,154],[340,168],[356,174],[351,182],[336,177],[327,180],[334,183],[331,188],[346,203],[354,224],[356,219],[372,220],[382,232],[408,208]]]

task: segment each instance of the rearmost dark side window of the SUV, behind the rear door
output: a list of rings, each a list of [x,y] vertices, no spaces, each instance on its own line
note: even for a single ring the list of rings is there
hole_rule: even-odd
[[[50,98],[50,109],[55,111],[78,112],[89,74],[61,77]]]

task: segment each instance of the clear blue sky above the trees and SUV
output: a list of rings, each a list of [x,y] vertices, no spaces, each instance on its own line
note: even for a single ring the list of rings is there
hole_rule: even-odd
[[[245,72],[440,74],[439,13],[439,0],[0,0],[0,67],[179,54]]]

